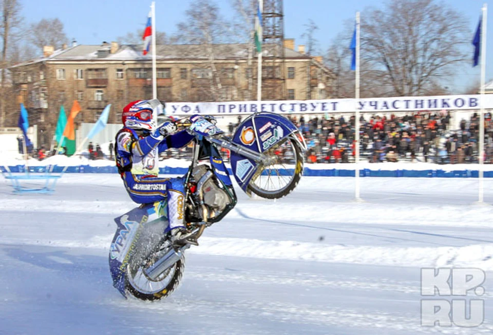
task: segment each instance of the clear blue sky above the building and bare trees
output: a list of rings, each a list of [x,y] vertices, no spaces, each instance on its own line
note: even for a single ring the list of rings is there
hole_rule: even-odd
[[[27,23],[42,18],[61,19],[68,38],[75,38],[79,44],[100,44],[114,41],[127,32],[136,32],[145,26],[151,1],[146,0],[21,0],[22,15]],[[176,24],[184,21],[184,12],[192,0],[156,0],[156,27],[168,34],[176,32]],[[233,14],[232,0],[217,0],[224,16]],[[446,0],[446,3],[464,14],[469,21],[471,41],[478,24],[481,0]],[[320,50],[330,46],[334,37],[344,30],[344,24],[352,19],[356,11],[366,7],[381,7],[381,0],[285,0],[285,37],[295,38],[296,45],[305,44],[301,39],[304,25],[312,19],[319,27],[315,37]],[[489,8],[493,12],[493,6]],[[492,17],[491,15],[488,15]],[[489,19],[487,32],[487,59],[493,57],[493,20]],[[472,57],[472,45],[470,47]],[[488,64],[488,63],[487,63]],[[486,67],[486,80],[493,79],[493,66]],[[480,67],[464,66],[457,76],[450,80],[451,93],[458,93],[479,81]]]

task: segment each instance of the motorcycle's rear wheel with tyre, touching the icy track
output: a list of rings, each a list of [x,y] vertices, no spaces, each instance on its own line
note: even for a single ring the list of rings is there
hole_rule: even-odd
[[[185,268],[184,256],[155,281],[145,275],[142,262],[139,263],[127,266],[125,288],[134,297],[146,301],[160,300],[166,298],[180,285]]]

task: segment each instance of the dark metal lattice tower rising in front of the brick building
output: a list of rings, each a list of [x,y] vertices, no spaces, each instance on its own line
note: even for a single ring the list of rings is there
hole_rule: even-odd
[[[262,100],[285,100],[285,52],[282,0],[263,0]]]

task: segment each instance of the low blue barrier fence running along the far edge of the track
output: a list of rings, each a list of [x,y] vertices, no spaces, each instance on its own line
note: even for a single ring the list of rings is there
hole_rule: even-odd
[[[1,166],[2,172],[7,172],[4,166]],[[24,165],[9,166],[11,172],[26,172]],[[45,173],[46,166],[30,166],[31,173]],[[53,173],[61,173],[63,166],[55,166]],[[184,167],[163,167],[159,169],[162,174],[184,174],[188,168]],[[231,173],[231,169],[228,169]],[[69,166],[66,173],[118,173],[116,166]],[[310,169],[306,167],[303,172],[306,176],[324,176],[324,177],[354,177],[354,170],[344,169]],[[478,178],[477,170],[359,170],[359,176],[362,177],[407,177],[407,178]],[[485,171],[485,178],[493,178],[493,171]]]

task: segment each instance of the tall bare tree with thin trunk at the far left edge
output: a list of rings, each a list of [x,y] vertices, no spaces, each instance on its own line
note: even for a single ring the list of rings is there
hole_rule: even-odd
[[[10,47],[10,40],[15,37],[18,32],[18,28],[22,22],[22,16],[20,14],[22,6],[17,0],[3,0],[0,3],[0,10],[2,11],[2,23],[0,24],[0,36],[2,38],[2,80],[0,88],[0,126],[5,126],[5,112],[7,96],[7,73],[6,68],[9,66],[7,60],[7,52]]]

